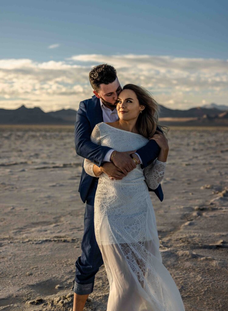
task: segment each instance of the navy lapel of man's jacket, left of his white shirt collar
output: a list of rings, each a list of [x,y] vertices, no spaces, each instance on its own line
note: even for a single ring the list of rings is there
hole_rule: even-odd
[[[87,117],[90,121],[92,130],[97,123],[103,122],[100,99],[95,95],[92,97],[92,99],[88,100]]]

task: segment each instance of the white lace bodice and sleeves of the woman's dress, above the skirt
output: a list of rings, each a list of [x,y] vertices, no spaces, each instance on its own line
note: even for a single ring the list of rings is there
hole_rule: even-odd
[[[146,145],[149,140],[140,134],[113,128],[112,126],[102,122],[98,123],[93,129],[91,141],[97,145],[108,146],[117,151],[129,151],[141,148]],[[93,165],[94,163],[90,160],[84,160],[83,166],[86,173],[95,177],[93,173]],[[141,169],[141,166],[137,165],[136,169],[128,173],[128,175],[122,180],[126,181],[135,178],[143,178],[149,188],[156,189],[164,178],[165,166],[166,162],[155,159],[145,169]],[[102,173],[99,177],[107,178],[107,175],[104,175],[106,174]],[[121,180],[119,182],[121,182]]]

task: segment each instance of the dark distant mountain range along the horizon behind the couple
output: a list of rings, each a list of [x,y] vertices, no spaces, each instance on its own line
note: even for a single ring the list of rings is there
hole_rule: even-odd
[[[173,124],[174,119],[186,119],[186,123],[219,123],[228,122],[228,106],[211,103],[209,106],[194,107],[188,110],[169,109],[160,106],[159,118],[163,124]],[[209,107],[209,108],[208,108]],[[61,109],[45,113],[39,107],[26,108],[24,105],[17,109],[0,109],[0,124],[74,124],[77,110]],[[164,121],[164,122],[163,122]],[[175,121],[175,122],[176,122]],[[227,121],[227,122],[226,122]],[[178,121],[179,122],[179,121]]]

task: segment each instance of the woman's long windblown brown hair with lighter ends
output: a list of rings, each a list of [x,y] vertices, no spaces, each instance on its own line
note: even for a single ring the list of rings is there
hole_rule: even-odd
[[[142,110],[142,113],[139,114],[136,122],[137,131],[142,136],[147,138],[152,137],[156,131],[157,126],[159,128],[166,129],[166,131],[164,131],[165,134],[168,133],[170,128],[168,126],[162,125],[158,121],[160,107],[152,95],[150,95],[149,91],[147,91],[144,87],[135,84],[126,84],[123,87],[123,90],[134,91],[139,104],[145,106],[145,109]]]

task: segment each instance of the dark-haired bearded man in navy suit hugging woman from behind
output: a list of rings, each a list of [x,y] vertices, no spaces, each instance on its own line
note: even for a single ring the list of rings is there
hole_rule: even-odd
[[[116,105],[122,88],[116,76],[116,69],[107,64],[93,67],[89,73],[89,81],[95,95],[92,99],[83,100],[79,104],[74,123],[76,153],[101,167],[103,173],[116,180],[123,178],[136,167],[131,156],[137,159],[138,164],[141,163],[142,168],[152,163],[160,152],[160,147],[153,139],[139,150],[127,152],[117,152],[90,141],[90,135],[97,123],[114,122],[118,118]],[[157,130],[161,131],[160,128]],[[74,291],[73,311],[83,310],[88,295],[93,292],[95,274],[103,264],[94,232],[94,198],[97,183],[98,178],[86,174],[83,168],[79,192],[82,201],[86,202],[86,207],[82,255],[75,262],[76,273],[72,287]],[[149,190],[154,191],[160,201],[163,200],[160,184],[157,189]]]

